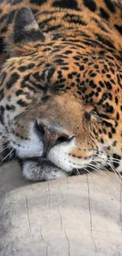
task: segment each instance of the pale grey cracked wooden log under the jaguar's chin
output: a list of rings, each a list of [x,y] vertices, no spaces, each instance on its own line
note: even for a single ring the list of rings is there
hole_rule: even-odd
[[[0,169],[0,256],[122,255],[121,182],[94,173],[43,183]]]

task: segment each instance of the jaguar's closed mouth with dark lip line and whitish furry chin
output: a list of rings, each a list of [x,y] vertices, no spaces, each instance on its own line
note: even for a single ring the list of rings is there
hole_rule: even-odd
[[[55,165],[44,155],[43,157],[19,158],[16,150],[13,147],[9,147],[9,143],[4,144],[4,148],[6,148],[6,150],[4,150],[3,159],[6,158],[8,161],[17,159],[20,162],[21,173],[27,180],[54,180],[66,176],[78,176],[93,171],[88,167],[87,169],[81,167],[80,169],[72,168],[72,170],[68,172]],[[6,157],[4,157],[5,155]]]

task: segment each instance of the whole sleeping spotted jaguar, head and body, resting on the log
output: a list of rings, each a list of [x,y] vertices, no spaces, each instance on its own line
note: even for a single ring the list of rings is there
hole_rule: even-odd
[[[0,0],[1,164],[122,171],[122,1]]]

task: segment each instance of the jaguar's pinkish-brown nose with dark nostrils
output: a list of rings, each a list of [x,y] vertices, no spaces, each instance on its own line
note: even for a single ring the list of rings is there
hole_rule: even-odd
[[[60,143],[69,143],[74,138],[73,135],[54,132],[54,128],[47,128],[45,124],[39,124],[37,121],[35,121],[35,132],[43,139],[43,143],[48,143],[51,147]]]

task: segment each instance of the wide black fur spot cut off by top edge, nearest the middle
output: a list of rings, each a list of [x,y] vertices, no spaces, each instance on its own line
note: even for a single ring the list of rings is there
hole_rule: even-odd
[[[35,0],[34,0],[35,1]],[[76,0],[57,0],[53,3],[54,7],[63,8],[63,9],[78,9]]]

